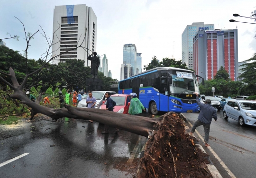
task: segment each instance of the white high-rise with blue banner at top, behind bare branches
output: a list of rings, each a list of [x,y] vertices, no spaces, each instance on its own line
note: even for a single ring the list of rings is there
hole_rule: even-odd
[[[81,43],[82,47],[58,56],[52,63],[82,59],[85,66],[91,66],[91,61],[87,60],[87,57],[96,51],[97,45],[97,17],[91,7],[85,4],[55,6],[53,32],[55,45],[52,46],[52,56],[71,50]]]

